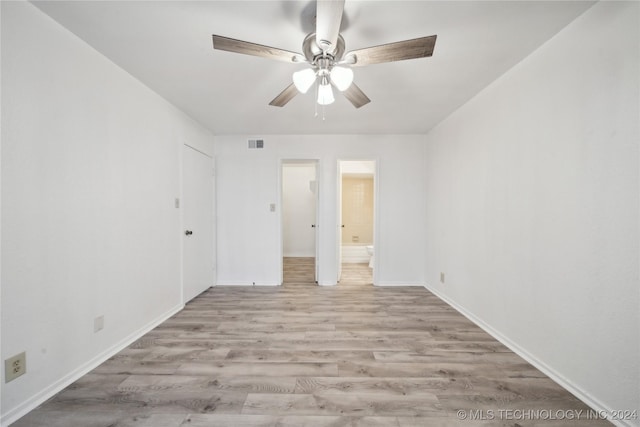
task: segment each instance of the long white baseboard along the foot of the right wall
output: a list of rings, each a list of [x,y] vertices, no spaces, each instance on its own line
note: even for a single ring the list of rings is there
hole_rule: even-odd
[[[615,413],[613,408],[609,408],[607,405],[603,404],[600,400],[598,400],[595,397],[593,397],[590,393],[588,393],[587,391],[585,391],[585,390],[581,389],[580,387],[578,387],[577,385],[575,385],[573,382],[571,382],[568,378],[566,378],[560,372],[556,371],[555,369],[553,369],[552,367],[550,367],[549,365],[547,365],[543,361],[541,361],[538,358],[536,358],[535,356],[531,355],[531,353],[529,353],[524,348],[520,347],[520,345],[518,345],[517,343],[515,343],[514,341],[512,341],[510,338],[508,338],[507,336],[503,335],[499,331],[495,330],[491,325],[485,323],[482,319],[480,319],[479,317],[477,317],[473,313],[467,311],[464,307],[462,307],[459,304],[455,303],[454,301],[449,299],[447,296],[445,296],[445,295],[441,294],[440,292],[438,292],[437,290],[433,289],[428,284],[425,284],[424,287],[429,292],[431,292],[432,294],[434,294],[435,296],[440,298],[442,301],[444,301],[445,303],[447,303],[448,305],[453,307],[456,311],[458,311],[464,317],[466,317],[467,319],[472,321],[474,324],[476,324],[478,327],[480,327],[486,333],[491,335],[493,338],[495,338],[496,340],[498,340],[499,342],[504,344],[506,347],[508,347],[511,351],[516,353],[518,356],[522,357],[524,360],[526,360],[527,362],[531,363],[534,367],[539,369],[542,373],[544,373],[549,378],[554,380],[560,386],[562,386],[563,388],[567,389],[570,393],[572,393],[578,399],[583,401],[590,408],[592,408],[593,410],[595,410],[598,413],[606,415],[607,419],[611,423],[613,423],[614,425],[619,426],[619,427],[637,427],[637,426],[640,425],[640,424],[637,424],[637,423],[633,423],[633,420],[629,420],[629,421],[622,420],[621,421],[621,420],[612,420],[612,419],[610,419],[609,414]]]

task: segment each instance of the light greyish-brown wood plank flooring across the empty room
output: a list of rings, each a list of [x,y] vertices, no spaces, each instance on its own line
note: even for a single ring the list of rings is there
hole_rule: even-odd
[[[610,425],[427,290],[363,269],[319,287],[296,258],[282,287],[211,288],[14,426]]]

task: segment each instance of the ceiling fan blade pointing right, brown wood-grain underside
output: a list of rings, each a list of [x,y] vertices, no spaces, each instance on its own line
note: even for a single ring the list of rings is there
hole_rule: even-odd
[[[355,56],[354,67],[359,65],[381,64],[383,62],[403,61],[405,59],[425,58],[433,55],[437,36],[420,37],[412,40],[383,44],[354,50],[345,55],[348,62]]]

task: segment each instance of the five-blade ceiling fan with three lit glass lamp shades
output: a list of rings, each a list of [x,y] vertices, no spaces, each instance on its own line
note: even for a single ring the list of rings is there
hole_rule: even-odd
[[[360,108],[371,100],[353,83],[353,70],[350,67],[433,55],[435,35],[345,53],[344,39],[340,35],[343,12],[344,0],[317,0],[316,31],[308,34],[302,42],[303,54],[215,34],[213,48],[293,64],[308,64],[309,68],[293,73],[293,83],[269,103],[275,107],[285,106],[298,92],[306,93],[317,83],[318,104],[331,104],[334,101],[332,87],[335,87],[354,107]]]

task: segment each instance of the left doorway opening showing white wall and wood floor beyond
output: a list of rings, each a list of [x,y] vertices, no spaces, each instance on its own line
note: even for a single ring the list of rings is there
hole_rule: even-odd
[[[282,188],[282,282],[318,282],[318,161],[283,160]]]

